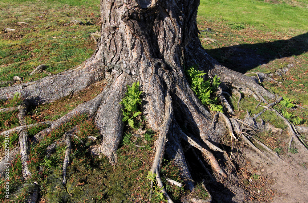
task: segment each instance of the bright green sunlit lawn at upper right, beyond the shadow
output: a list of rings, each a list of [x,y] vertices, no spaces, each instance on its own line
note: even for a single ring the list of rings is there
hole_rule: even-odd
[[[224,21],[226,24],[246,24],[265,31],[306,32],[306,1],[297,1],[296,6],[291,4],[292,1],[274,2],[277,3],[271,4],[262,0],[201,0],[198,16]]]

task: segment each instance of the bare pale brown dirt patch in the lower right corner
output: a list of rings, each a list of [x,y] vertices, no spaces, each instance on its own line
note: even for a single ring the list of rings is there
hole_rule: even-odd
[[[282,155],[283,161],[276,164],[268,164],[261,160],[253,151],[246,150],[245,154],[251,161],[251,165],[258,166],[256,169],[261,176],[268,176],[274,180],[271,189],[276,191],[274,203],[303,203],[308,202],[308,170],[307,155],[300,149],[297,154],[287,153]]]

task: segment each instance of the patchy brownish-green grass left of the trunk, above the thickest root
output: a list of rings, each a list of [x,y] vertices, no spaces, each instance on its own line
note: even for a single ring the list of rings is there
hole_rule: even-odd
[[[18,2],[13,6],[11,1],[2,1],[0,6],[0,81],[11,81],[14,76],[38,80],[72,68],[93,54],[96,46],[89,33],[100,27],[98,1]],[[93,25],[64,25],[72,19]],[[4,27],[16,31],[4,34]],[[47,64],[46,72],[30,76],[41,64]]]

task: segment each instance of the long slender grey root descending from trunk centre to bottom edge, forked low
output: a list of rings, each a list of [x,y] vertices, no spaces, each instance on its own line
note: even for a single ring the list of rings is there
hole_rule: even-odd
[[[171,198],[167,194],[166,190],[164,189],[164,184],[160,179],[160,165],[161,165],[161,161],[162,161],[163,156],[164,156],[164,148],[165,148],[166,141],[167,141],[167,133],[168,133],[168,130],[170,128],[171,121],[172,121],[172,116],[173,116],[172,112],[173,112],[173,110],[172,110],[171,97],[170,97],[169,93],[167,93],[167,96],[165,98],[164,122],[160,126],[159,136],[158,136],[158,139],[156,141],[157,148],[156,148],[155,157],[154,157],[154,161],[153,161],[153,164],[152,164],[151,172],[153,174],[156,173],[157,184],[158,184],[159,188],[162,188],[161,191],[164,193],[165,197],[167,198],[168,203],[173,203],[173,201],[171,200]],[[153,182],[151,182],[151,186],[153,186]],[[152,189],[152,187],[151,187],[151,189]],[[151,193],[150,193],[150,197],[152,197],[152,190],[151,190]]]

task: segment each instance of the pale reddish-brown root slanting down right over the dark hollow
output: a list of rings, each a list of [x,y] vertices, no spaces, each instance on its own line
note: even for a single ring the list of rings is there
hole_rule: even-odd
[[[191,139],[183,131],[181,131],[181,129],[179,129],[179,131],[181,133],[181,138],[182,139],[184,139],[186,142],[188,142],[191,146],[196,147],[197,149],[199,149],[202,152],[202,154],[205,155],[205,157],[207,157],[210,160],[210,165],[213,168],[213,170],[215,170],[217,173],[220,173],[222,176],[227,177],[225,172],[223,172],[223,170],[221,169],[220,165],[218,164],[218,162],[217,162],[215,156],[213,155],[213,153],[211,151],[209,151],[208,147],[206,147],[206,146],[205,147],[201,147],[198,143],[196,143],[193,139]],[[218,147],[217,147],[217,151],[223,152]]]

